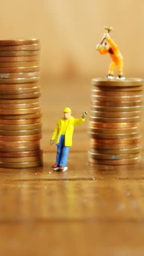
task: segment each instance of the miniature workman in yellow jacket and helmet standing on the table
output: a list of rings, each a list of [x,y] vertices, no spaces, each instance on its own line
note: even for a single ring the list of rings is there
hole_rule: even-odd
[[[67,171],[67,159],[69,154],[69,147],[72,146],[72,137],[74,132],[74,126],[80,125],[85,121],[87,115],[86,111],[83,111],[82,117],[75,119],[71,117],[71,109],[66,107],[63,110],[64,118],[59,119],[56,129],[53,131],[51,137],[51,145],[54,144],[55,138],[57,138],[57,158],[56,164],[52,165],[55,171]]]

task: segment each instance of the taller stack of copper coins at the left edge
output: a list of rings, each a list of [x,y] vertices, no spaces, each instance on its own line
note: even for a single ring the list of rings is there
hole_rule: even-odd
[[[0,167],[42,165],[38,39],[0,40]]]

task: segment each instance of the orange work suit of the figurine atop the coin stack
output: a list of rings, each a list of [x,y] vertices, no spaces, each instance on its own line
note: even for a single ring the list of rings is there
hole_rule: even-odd
[[[110,44],[109,50],[103,48],[99,49],[98,51],[100,54],[109,53],[111,56],[112,63],[110,65],[109,75],[113,75],[116,66],[118,66],[118,75],[123,76],[123,56],[118,50],[118,46],[113,42],[113,40],[110,37],[107,37],[106,39],[107,42],[109,42]]]

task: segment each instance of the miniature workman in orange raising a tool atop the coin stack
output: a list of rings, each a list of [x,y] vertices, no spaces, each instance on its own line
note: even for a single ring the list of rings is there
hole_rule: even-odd
[[[118,66],[118,77],[117,79],[125,79],[123,77],[123,56],[120,53],[118,46],[113,42],[113,40],[110,38],[109,32],[113,30],[111,27],[104,27],[108,32],[104,34],[103,39],[101,40],[101,43],[97,45],[97,50],[99,51],[100,54],[107,54],[109,53],[112,59],[110,68],[109,68],[109,73],[106,76],[108,79],[113,79],[114,71],[116,66]],[[104,42],[104,40],[107,40],[108,44]]]

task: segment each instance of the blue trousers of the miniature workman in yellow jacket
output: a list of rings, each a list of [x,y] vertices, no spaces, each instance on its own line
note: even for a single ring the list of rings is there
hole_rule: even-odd
[[[67,166],[69,147],[64,146],[65,135],[61,135],[57,143],[57,165]]]

